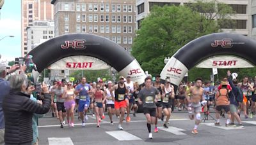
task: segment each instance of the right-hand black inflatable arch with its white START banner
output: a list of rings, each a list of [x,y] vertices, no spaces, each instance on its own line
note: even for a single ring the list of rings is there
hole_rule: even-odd
[[[172,83],[179,86],[189,69],[207,59],[210,60],[210,63],[205,68],[255,67],[255,54],[256,41],[252,38],[232,33],[209,34],[180,48],[164,66],[161,79],[170,77]],[[215,57],[221,55],[226,59],[214,60]],[[232,60],[227,60],[227,58]]]

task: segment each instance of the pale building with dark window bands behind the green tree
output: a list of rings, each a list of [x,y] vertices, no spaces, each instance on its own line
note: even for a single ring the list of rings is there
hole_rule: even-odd
[[[252,15],[251,15],[251,3],[254,6],[253,12],[256,14],[256,0],[254,3],[251,0],[218,0],[219,3],[228,4],[236,11],[236,14],[232,17],[233,20],[236,20],[236,29],[222,29],[224,32],[235,32],[238,34],[243,34],[244,36],[254,36],[256,37],[256,29],[252,29]],[[188,3],[193,3],[195,0],[136,0],[136,29],[140,29],[141,20],[147,17],[148,13],[152,6],[164,6],[167,5],[185,5]],[[218,3],[217,2],[217,3]],[[256,15],[255,15],[256,22]],[[256,27],[256,23],[253,23]]]

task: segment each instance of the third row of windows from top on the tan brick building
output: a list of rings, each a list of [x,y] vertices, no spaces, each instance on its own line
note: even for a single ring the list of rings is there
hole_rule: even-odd
[[[99,29],[99,31],[98,31]],[[110,30],[111,29],[111,30]],[[89,25],[89,32],[101,32],[101,33],[121,33],[121,26],[120,25]],[[68,25],[65,25],[65,32],[68,32]],[[76,25],[76,32],[86,32],[86,25]],[[132,33],[132,26],[131,25],[124,25],[123,26],[123,33]]]

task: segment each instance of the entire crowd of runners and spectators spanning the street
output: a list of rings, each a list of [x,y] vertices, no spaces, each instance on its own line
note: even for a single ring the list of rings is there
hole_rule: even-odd
[[[17,69],[20,69],[19,74],[8,76],[8,81],[4,79]],[[209,114],[210,107],[216,112],[215,125],[220,125],[220,116],[225,117],[227,113],[226,127],[235,126],[235,118],[238,122],[236,126],[242,125],[241,111],[245,118],[253,118],[255,114],[256,82],[250,82],[244,76],[243,82],[238,83],[230,71],[220,84],[214,85],[210,81],[203,83],[201,78],[197,78],[195,82],[180,83],[177,88],[172,85],[170,78],[161,81],[159,75],[154,81],[148,76],[141,85],[131,81],[131,76],[120,76],[118,82],[108,81],[106,84],[102,79],[89,83],[82,78],[77,84],[62,79],[54,81],[49,88],[43,83],[38,99],[38,90],[29,83],[24,70],[26,66],[17,65],[6,70],[6,66],[0,63],[0,143],[38,144],[38,118],[48,113],[50,108],[52,117],[58,118],[61,128],[66,120],[68,127],[74,127],[75,113],[78,113],[81,127],[85,127],[87,113],[91,111],[98,128],[107,112],[110,125],[113,125],[113,116],[116,115],[119,118],[118,130],[123,130],[123,121],[131,121],[131,114],[136,117],[138,106],[141,105],[149,138],[152,138],[151,125],[154,125],[154,132],[158,132],[157,118],[163,121],[164,128],[168,128],[175,108],[188,111],[191,120],[195,118],[193,134],[198,134],[201,112]],[[238,99],[240,92],[242,101]]]

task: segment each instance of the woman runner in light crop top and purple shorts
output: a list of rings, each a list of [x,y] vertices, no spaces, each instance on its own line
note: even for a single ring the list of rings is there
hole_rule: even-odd
[[[63,98],[65,98],[64,106],[67,111],[67,121],[69,127],[74,127],[74,109],[76,106],[76,96],[74,94],[74,88],[72,88],[72,83],[67,83],[67,90],[62,95]],[[71,117],[71,122],[69,121],[69,117]]]

